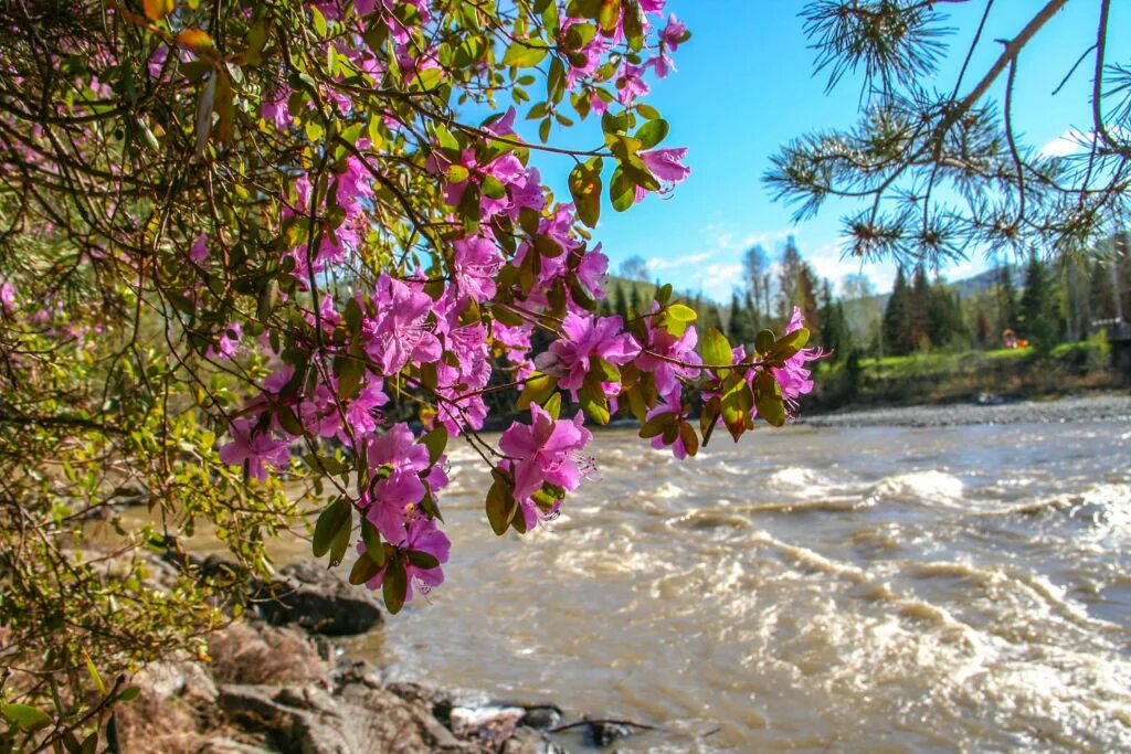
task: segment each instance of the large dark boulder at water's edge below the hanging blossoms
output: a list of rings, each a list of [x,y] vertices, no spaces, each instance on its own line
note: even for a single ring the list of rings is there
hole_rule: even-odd
[[[365,633],[381,623],[377,598],[337,571],[308,561],[288,565],[279,575],[270,588],[257,591],[259,613],[268,623],[296,624],[327,636]]]

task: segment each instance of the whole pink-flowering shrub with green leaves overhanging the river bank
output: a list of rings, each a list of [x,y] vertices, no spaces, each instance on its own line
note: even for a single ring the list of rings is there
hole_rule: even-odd
[[[19,426],[2,458],[27,462],[34,437],[104,470],[66,494],[41,475],[5,513],[5,557],[28,546],[24,515],[44,557],[74,561],[58,541],[85,540],[76,521],[123,475],[163,514],[122,530],[129,544],[175,549],[199,517],[260,570],[264,541],[317,500],[314,554],[337,565],[355,549],[351,580],[396,613],[443,581],[456,439],[491,469],[502,535],[553,518],[581,483],[586,423],[634,416],[680,457],[718,425],[737,440],[758,418],[784,424],[819,355],[797,318],[729,344],[697,332],[670,286],[627,321],[594,313],[605,206],[689,175],[644,101],[690,36],[664,6],[14,3],[0,317],[3,418]],[[549,144],[577,120],[592,148]],[[568,196],[539,153],[572,158]],[[492,442],[481,431],[503,393],[528,418]],[[97,581],[86,567],[52,588]],[[6,578],[14,635],[53,641],[35,632],[40,577]],[[55,639],[74,658],[80,636]],[[120,667],[120,650],[100,658]]]

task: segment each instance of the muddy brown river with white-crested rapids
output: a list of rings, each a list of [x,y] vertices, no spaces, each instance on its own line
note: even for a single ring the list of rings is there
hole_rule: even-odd
[[[598,433],[497,539],[457,448],[448,581],[349,651],[661,730],[625,752],[1131,749],[1131,421]]]

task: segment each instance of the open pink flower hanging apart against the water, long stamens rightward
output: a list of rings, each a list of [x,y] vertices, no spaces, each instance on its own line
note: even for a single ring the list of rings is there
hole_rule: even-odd
[[[533,495],[546,482],[567,492],[581,483],[576,453],[593,434],[582,424],[578,411],[572,421],[558,421],[537,404],[530,404],[530,424],[511,424],[503,432],[499,447],[511,458],[515,473],[515,497]]]

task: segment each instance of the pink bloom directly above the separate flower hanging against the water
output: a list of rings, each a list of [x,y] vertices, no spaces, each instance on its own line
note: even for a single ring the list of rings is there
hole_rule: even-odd
[[[620,317],[598,319],[567,314],[562,322],[562,337],[552,343],[550,350],[539,355],[535,364],[544,372],[558,375],[559,387],[571,391],[576,400],[594,359],[628,364],[639,353],[640,346],[624,332]]]

